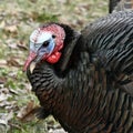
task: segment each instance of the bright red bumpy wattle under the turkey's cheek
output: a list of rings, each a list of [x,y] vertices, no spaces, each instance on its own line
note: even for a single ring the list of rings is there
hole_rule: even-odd
[[[50,55],[47,61],[49,63],[57,63],[60,60],[61,53],[60,52],[54,52],[52,55]]]

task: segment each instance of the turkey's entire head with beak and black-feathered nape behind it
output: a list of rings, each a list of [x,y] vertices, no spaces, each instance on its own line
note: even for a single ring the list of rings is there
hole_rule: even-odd
[[[78,37],[80,37],[78,32],[64,24],[49,23],[39,27],[30,35],[30,53],[23,70],[27,71],[30,66],[32,72],[35,64],[43,61],[55,64],[63,52],[63,58],[60,61],[60,69],[63,71],[70,60]],[[65,62],[63,59],[65,59]]]

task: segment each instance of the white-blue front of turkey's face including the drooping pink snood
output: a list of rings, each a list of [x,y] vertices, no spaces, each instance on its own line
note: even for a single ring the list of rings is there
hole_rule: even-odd
[[[50,32],[34,30],[30,35],[30,54],[23,70],[25,71],[32,61],[38,63],[42,59],[45,60],[53,52],[54,47],[55,41]]]

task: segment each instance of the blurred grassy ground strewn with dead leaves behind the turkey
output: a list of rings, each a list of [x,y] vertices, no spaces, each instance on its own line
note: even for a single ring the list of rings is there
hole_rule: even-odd
[[[39,103],[22,72],[29,35],[50,21],[80,31],[105,14],[108,0],[0,0],[0,133],[63,133],[52,116],[33,115]]]

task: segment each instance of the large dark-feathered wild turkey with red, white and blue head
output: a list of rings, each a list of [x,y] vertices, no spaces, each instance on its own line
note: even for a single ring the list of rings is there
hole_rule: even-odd
[[[30,37],[24,64],[41,109],[70,133],[133,133],[133,12],[115,12],[80,33],[61,23]]]

